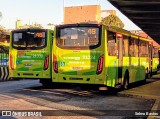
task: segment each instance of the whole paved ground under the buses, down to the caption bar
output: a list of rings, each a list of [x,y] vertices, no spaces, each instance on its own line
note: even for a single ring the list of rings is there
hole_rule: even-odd
[[[154,75],[152,78],[147,79],[146,83],[135,83],[131,85],[128,90],[118,91],[116,93],[112,90],[108,90],[105,94],[101,94],[98,90],[91,90],[91,87],[87,87],[87,89],[85,87],[83,89],[83,87],[77,87],[74,85],[57,85],[44,88],[37,80],[1,82],[0,110],[4,109],[92,109],[96,111],[118,109],[150,110],[151,113],[157,113],[158,110],[160,110],[160,74]],[[160,112],[158,113],[158,115],[160,115]],[[70,116],[66,117],[70,118]],[[50,118],[51,116],[47,119]],[[62,118],[64,118],[64,116]],[[75,118],[75,116],[72,118]],[[82,116],[80,116],[80,118],[82,118]],[[122,119],[122,116],[84,116],[84,118]],[[159,116],[155,115],[148,116],[147,118],[160,119]],[[128,117],[125,119],[128,119]]]

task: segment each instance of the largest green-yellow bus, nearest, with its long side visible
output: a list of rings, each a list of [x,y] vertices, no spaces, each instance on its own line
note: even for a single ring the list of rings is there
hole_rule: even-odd
[[[52,82],[128,88],[150,72],[151,40],[102,24],[55,27]]]

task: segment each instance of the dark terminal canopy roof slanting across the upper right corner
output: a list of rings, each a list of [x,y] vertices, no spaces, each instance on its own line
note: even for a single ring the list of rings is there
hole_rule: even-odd
[[[108,0],[160,44],[160,0]]]

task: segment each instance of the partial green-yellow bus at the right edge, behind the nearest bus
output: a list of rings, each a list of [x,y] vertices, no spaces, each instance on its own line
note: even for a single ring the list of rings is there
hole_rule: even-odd
[[[157,74],[159,70],[159,47],[152,48],[152,74]]]

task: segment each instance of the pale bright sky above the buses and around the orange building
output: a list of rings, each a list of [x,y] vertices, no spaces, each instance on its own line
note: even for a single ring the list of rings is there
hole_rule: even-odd
[[[124,29],[140,30],[107,0],[0,0],[0,25],[6,29],[14,29],[16,20],[22,20],[26,24],[42,24],[43,27],[48,23],[61,24],[63,6],[83,5],[100,5],[101,10],[116,10],[117,16],[125,24]]]

